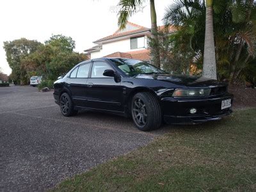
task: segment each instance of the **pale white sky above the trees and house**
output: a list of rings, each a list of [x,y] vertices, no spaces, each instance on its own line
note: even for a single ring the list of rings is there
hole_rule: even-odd
[[[163,25],[164,8],[173,0],[156,0],[157,25]],[[118,0],[1,0],[0,1],[0,68],[12,70],[6,61],[3,42],[19,38],[45,42],[52,34],[71,36],[77,52],[93,46],[93,41],[113,34],[117,26],[111,6]],[[149,0],[143,12],[129,21],[150,28]]]

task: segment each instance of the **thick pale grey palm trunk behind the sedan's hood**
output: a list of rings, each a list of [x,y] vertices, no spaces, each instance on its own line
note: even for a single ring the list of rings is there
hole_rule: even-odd
[[[210,79],[217,79],[212,21],[212,1],[213,0],[206,0],[203,76]]]

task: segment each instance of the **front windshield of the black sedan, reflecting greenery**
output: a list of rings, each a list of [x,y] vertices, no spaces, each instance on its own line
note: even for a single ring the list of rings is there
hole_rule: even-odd
[[[111,58],[109,60],[115,63],[115,65],[128,76],[136,76],[138,74],[166,74],[164,70],[140,60],[123,58]]]

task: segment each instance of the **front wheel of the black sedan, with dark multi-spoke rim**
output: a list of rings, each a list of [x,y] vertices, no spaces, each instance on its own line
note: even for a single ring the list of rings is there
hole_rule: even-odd
[[[156,97],[149,92],[136,93],[131,102],[132,120],[140,131],[158,129],[162,124],[162,111]]]

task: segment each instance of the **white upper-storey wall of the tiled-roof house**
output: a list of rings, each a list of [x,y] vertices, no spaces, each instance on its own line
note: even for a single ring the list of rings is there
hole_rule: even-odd
[[[147,48],[147,36],[145,36],[145,48]],[[138,51],[143,50],[145,48],[131,49],[130,38],[126,38],[124,40],[118,40],[115,42],[108,42],[102,44],[102,49],[100,51],[91,53],[91,59],[100,58],[113,52]]]

